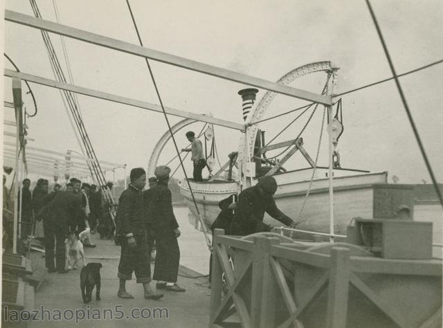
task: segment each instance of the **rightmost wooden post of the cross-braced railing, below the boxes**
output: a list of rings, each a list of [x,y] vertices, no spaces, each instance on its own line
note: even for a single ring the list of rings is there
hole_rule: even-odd
[[[349,273],[350,250],[345,247],[333,247],[327,290],[327,328],[346,327]]]

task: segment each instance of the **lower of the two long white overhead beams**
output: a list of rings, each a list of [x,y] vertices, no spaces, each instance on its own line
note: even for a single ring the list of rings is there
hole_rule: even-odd
[[[89,95],[94,98],[100,98],[104,100],[109,100],[111,102],[118,102],[120,104],[128,104],[132,107],[138,107],[143,109],[149,109],[150,111],[158,111],[159,113],[163,113],[163,110],[158,104],[152,104],[150,102],[145,102],[141,100],[135,100],[131,98],[122,97],[120,95],[114,95],[112,93],[97,91],[93,89],[84,88],[82,86],[76,86],[73,84],[68,84],[64,82],[58,82],[55,80],[42,78],[40,76],[26,74],[23,72],[17,72],[12,71],[10,69],[5,69],[5,76],[8,76],[10,78],[20,78],[21,80],[26,80],[28,82],[34,82],[37,84],[42,84],[46,86],[51,86],[52,88],[56,89],[62,89],[62,90],[68,90],[75,93],[80,93],[82,95]],[[190,113],[188,111],[180,111],[179,109],[173,109],[170,107],[165,107],[166,113],[174,116],[179,116],[182,118],[191,118],[193,120],[198,120],[201,122],[208,122],[215,125],[220,125],[222,127],[229,127],[230,129],[236,129],[236,130],[244,130],[244,125],[230,122],[228,120],[221,120],[219,118],[213,118],[210,116],[202,115],[202,114],[196,114],[196,113]]]

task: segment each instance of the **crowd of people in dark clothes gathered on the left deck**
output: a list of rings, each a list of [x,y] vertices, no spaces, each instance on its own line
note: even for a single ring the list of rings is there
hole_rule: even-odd
[[[82,183],[76,178],[66,183],[64,190],[62,185],[55,183],[52,192],[48,192],[46,179],[39,179],[32,192],[30,182],[30,179],[24,179],[19,191],[20,237],[27,239],[33,235],[44,242],[48,272],[66,273],[64,244],[68,233],[75,232],[80,236],[84,246],[96,247],[91,243],[89,233],[95,233],[100,226],[111,225],[102,219],[105,217],[102,193],[96,185]]]

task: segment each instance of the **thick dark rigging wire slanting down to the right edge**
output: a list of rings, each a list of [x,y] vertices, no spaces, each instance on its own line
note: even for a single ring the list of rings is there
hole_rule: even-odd
[[[386,59],[388,60],[388,63],[389,63],[389,66],[390,66],[390,70],[392,71],[393,79],[395,80],[395,84],[397,84],[397,89],[399,91],[401,102],[403,102],[403,106],[404,106],[404,109],[406,111],[406,115],[408,116],[408,120],[410,122],[410,126],[413,129],[413,132],[414,132],[414,135],[415,135],[415,139],[417,140],[417,143],[418,143],[419,148],[420,148],[420,152],[422,152],[424,163],[426,164],[426,167],[428,169],[428,173],[431,176],[431,180],[433,182],[433,185],[434,185],[434,188],[435,188],[435,192],[437,193],[437,197],[440,199],[440,204],[443,206],[442,193],[440,192],[440,188],[438,188],[437,179],[435,179],[434,172],[433,172],[432,167],[431,167],[431,163],[429,162],[428,156],[426,155],[426,151],[424,149],[424,145],[422,143],[422,139],[419,136],[417,127],[415,126],[415,122],[414,122],[412,113],[410,113],[408,102],[406,101],[406,97],[405,97],[405,95],[403,93],[403,89],[401,88],[401,84],[400,84],[399,78],[398,78],[397,73],[395,71],[394,63],[392,62],[392,59],[391,59],[389,51],[388,51],[388,46],[386,46],[385,40],[383,38],[383,34],[381,33],[379,22],[377,21],[377,17],[375,17],[375,13],[374,13],[374,10],[372,10],[372,6],[371,6],[370,1],[369,0],[365,0],[365,1],[366,1],[366,4],[368,5],[368,9],[369,9],[370,15],[372,17],[372,21],[374,22],[374,26],[375,26],[375,28],[377,30],[377,34],[379,35],[379,39],[380,39],[381,45],[383,46],[383,51],[385,52]]]

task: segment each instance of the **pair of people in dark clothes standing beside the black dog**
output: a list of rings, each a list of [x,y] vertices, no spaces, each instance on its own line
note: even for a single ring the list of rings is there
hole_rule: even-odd
[[[120,195],[116,215],[116,236],[121,246],[118,278],[118,297],[133,298],[126,291],[126,281],[135,273],[136,282],[143,284],[146,299],[158,300],[158,293],[150,286],[156,280],[156,290],[183,292],[177,284],[180,250],[177,238],[179,224],[172,208],[172,194],[168,189],[170,179],[168,166],[156,167],[155,177],[146,185],[146,173],[141,167],[130,173],[129,187]],[[150,254],[156,244],[154,275],[151,278]]]

